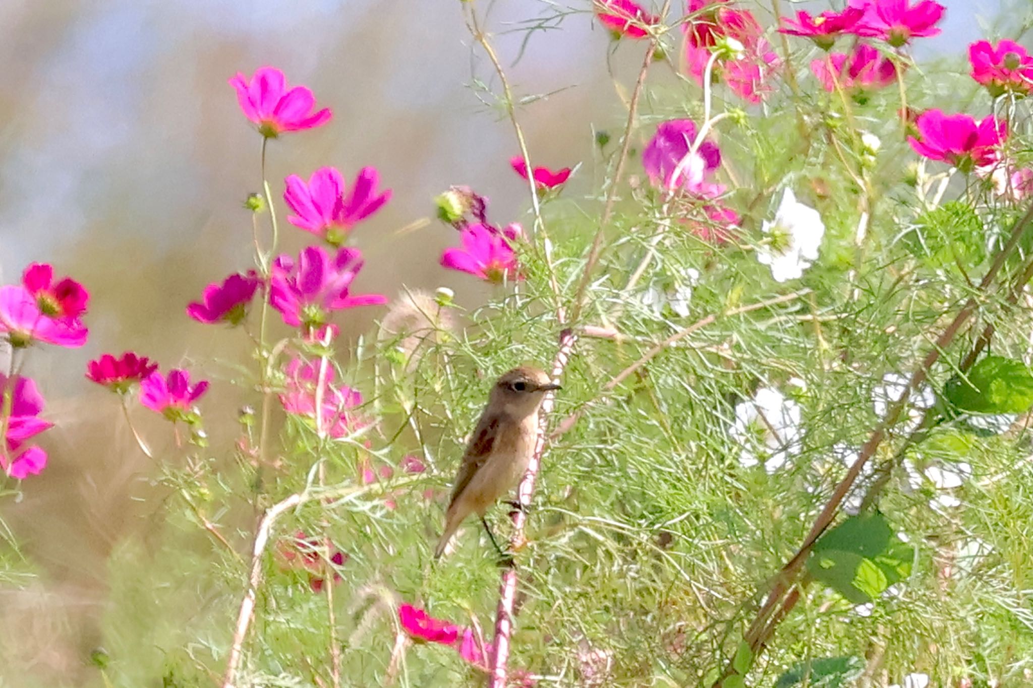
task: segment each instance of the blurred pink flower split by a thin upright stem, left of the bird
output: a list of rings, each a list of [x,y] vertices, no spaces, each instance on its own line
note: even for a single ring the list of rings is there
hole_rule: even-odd
[[[280,394],[280,403],[288,414],[315,421],[319,367],[318,359],[304,361],[301,358],[291,359],[284,366],[284,391]],[[354,411],[363,405],[362,393],[347,385],[335,385],[335,378],[334,366],[327,364],[323,372],[320,420],[327,435],[345,437],[370,425],[370,421]]]

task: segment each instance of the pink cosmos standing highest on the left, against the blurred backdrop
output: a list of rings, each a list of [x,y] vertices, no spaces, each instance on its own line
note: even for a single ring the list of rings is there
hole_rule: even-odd
[[[265,138],[330,122],[330,109],[324,107],[313,113],[316,99],[312,92],[304,86],[287,89],[287,79],[279,69],[261,67],[250,80],[238,73],[229,79],[229,85],[237,89],[244,117],[258,125],[258,132]]]

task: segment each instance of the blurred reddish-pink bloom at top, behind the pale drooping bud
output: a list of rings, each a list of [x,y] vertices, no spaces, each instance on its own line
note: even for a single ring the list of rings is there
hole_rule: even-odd
[[[742,45],[742,57],[718,59],[712,78],[723,79],[739,97],[751,103],[763,100],[771,87],[770,75],[779,65],[779,57],[763,38],[763,30],[746,9],[731,9],[723,2],[689,0],[692,20],[682,25],[685,33],[685,57],[689,75],[700,86],[707,65],[721,41],[732,39]]]

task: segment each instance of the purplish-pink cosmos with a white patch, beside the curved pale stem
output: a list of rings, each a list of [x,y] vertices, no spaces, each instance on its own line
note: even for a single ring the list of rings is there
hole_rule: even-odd
[[[685,191],[702,198],[714,198],[724,187],[710,181],[721,165],[721,151],[712,141],[696,139],[696,124],[692,120],[669,120],[656,128],[656,134],[643,151],[643,167],[650,183],[668,192]]]

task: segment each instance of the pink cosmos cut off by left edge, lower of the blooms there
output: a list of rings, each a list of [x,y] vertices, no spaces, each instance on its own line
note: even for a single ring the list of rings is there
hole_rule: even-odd
[[[0,396],[10,395],[10,416],[7,418],[7,432],[4,445],[0,447],[0,468],[8,476],[25,480],[38,476],[46,466],[46,452],[26,441],[53,423],[39,418],[43,411],[43,397],[31,378],[19,376],[9,385],[7,376],[0,373]]]

